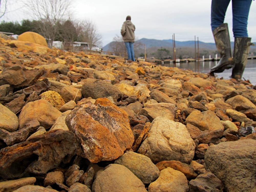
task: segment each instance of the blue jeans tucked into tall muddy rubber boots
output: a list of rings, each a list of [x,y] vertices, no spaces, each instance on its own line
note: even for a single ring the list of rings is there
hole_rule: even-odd
[[[230,0],[211,1],[211,30],[224,23]],[[232,0],[233,35],[248,37],[247,21],[252,0]]]

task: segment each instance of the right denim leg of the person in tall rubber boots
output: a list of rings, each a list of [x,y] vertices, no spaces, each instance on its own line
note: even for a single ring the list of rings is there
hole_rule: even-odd
[[[252,0],[233,0],[233,34],[234,37],[248,37],[247,21]]]

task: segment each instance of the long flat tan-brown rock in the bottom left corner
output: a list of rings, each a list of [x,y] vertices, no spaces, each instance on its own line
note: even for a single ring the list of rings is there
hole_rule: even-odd
[[[35,182],[36,182],[35,177],[25,177],[25,178],[20,178],[16,180],[3,181],[3,182],[0,182],[0,191],[12,192],[22,186],[34,185]]]

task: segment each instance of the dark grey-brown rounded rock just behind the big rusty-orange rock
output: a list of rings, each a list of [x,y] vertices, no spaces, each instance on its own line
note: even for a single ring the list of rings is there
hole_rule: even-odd
[[[116,86],[110,83],[102,80],[89,80],[82,86],[82,95],[84,98],[91,97],[92,99],[111,96],[114,101],[117,101],[121,97],[121,92]]]

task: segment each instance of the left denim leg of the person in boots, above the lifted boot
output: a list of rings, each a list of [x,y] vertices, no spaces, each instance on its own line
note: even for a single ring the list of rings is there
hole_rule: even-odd
[[[211,30],[224,23],[225,14],[230,0],[211,1]]]

